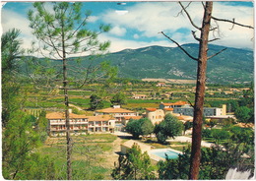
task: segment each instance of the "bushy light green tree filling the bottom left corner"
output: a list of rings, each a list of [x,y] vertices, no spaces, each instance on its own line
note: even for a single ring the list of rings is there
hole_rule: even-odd
[[[4,178],[11,180],[55,179],[52,160],[39,155],[35,150],[41,145],[40,135],[32,128],[32,124],[36,121],[35,118],[33,117],[32,120],[32,116],[22,111],[16,111],[13,114],[13,118],[9,120],[3,131]]]

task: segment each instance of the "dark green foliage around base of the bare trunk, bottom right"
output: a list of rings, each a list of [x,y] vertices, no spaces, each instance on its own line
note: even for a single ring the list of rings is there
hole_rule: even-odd
[[[224,147],[216,145],[212,148],[202,149],[199,179],[212,180],[224,179],[229,168],[237,167],[238,170],[254,169],[254,156],[244,158],[239,147],[233,143],[224,144]],[[190,149],[184,150],[177,159],[160,161],[160,179],[177,180],[187,179],[189,172]]]

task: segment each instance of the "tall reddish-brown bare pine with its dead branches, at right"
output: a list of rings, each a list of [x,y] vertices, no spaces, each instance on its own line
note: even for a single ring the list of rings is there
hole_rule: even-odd
[[[204,15],[202,19],[201,27],[197,26],[193,19],[191,18],[190,14],[187,11],[190,3],[187,6],[183,6],[181,2],[179,2],[182,10],[181,13],[185,12],[186,16],[188,17],[189,22],[191,25],[200,31],[200,37],[196,36],[196,31],[192,30],[192,35],[194,38],[199,41],[199,53],[198,57],[194,57],[189,54],[178,42],[167,36],[164,32],[162,33],[165,37],[167,37],[170,41],[174,42],[186,55],[188,55],[191,59],[197,61],[197,85],[196,85],[196,93],[195,93],[195,104],[194,104],[194,118],[193,118],[193,132],[192,132],[192,148],[191,148],[191,162],[190,162],[190,171],[189,171],[189,179],[198,179],[199,175],[199,165],[200,165],[200,157],[201,157],[201,141],[202,141],[202,124],[203,124],[203,105],[204,105],[204,98],[205,98],[205,87],[206,87],[206,71],[207,71],[207,60],[215,57],[216,55],[220,54],[225,50],[221,50],[216,54],[208,56],[208,43],[211,41],[218,40],[220,38],[213,38],[209,39],[209,33],[213,30],[218,30],[218,25],[216,27],[212,27],[211,20],[219,21],[219,22],[226,22],[231,23],[233,26],[240,26],[245,27],[248,29],[253,29],[251,26],[244,26],[242,24],[238,24],[234,21],[219,19],[213,17],[213,2],[207,1],[202,3],[204,8]]]

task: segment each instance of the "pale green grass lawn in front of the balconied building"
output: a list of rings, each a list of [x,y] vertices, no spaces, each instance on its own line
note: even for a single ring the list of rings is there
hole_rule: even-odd
[[[74,136],[72,151],[72,168],[74,180],[106,180],[112,170],[107,166],[108,154],[113,152],[116,136],[111,134],[92,134]],[[66,138],[48,138],[39,148],[42,154],[54,159],[58,179],[66,179]]]

